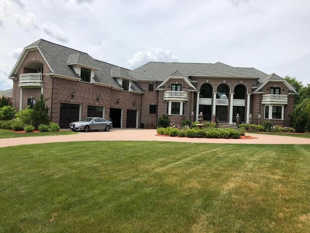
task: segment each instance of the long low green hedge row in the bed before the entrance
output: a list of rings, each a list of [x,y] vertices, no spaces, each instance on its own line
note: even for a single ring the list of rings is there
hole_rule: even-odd
[[[178,129],[178,128],[158,128],[158,134],[170,135],[171,137],[205,137],[205,138],[240,138],[244,133],[234,129],[219,129],[219,128],[193,128],[193,129]]]

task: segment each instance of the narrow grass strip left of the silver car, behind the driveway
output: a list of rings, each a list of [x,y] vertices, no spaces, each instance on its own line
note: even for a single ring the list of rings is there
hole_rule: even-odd
[[[11,137],[38,137],[38,136],[53,136],[53,135],[68,135],[76,134],[72,131],[57,131],[57,132],[42,132],[42,133],[18,133],[12,130],[0,129],[0,138],[11,138]]]

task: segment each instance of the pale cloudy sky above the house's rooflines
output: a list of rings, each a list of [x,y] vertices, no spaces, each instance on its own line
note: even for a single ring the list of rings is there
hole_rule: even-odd
[[[310,0],[0,0],[0,90],[40,38],[129,69],[221,62],[310,83]]]

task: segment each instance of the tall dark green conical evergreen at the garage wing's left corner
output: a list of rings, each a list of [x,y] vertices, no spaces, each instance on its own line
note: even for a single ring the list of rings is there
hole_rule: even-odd
[[[31,124],[36,130],[39,129],[39,126],[41,124],[48,125],[51,121],[50,117],[48,116],[49,108],[45,104],[46,100],[44,99],[42,94],[40,99],[35,99],[36,102],[33,105],[33,111],[31,113]]]

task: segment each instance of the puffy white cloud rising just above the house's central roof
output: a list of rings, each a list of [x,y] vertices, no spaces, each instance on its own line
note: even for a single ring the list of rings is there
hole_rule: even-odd
[[[129,60],[131,68],[140,67],[148,62],[177,62],[178,58],[169,50],[161,48],[150,48],[147,51],[140,51],[134,54],[133,58]]]

